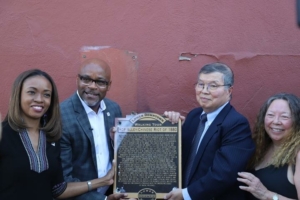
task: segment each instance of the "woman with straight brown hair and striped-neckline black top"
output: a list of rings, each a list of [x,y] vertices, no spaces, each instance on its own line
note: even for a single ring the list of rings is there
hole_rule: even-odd
[[[113,168],[105,177],[91,180],[92,184],[64,181],[58,92],[47,73],[33,69],[17,77],[2,127],[0,199],[69,198],[113,183]]]

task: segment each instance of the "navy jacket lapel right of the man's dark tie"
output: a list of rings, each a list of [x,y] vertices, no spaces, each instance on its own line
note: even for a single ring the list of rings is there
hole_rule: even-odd
[[[199,149],[198,152],[196,154],[195,160],[194,160],[194,164],[192,166],[191,169],[191,175],[195,173],[198,165],[200,164],[200,160],[203,156],[203,153],[207,147],[207,145],[209,144],[209,141],[211,140],[212,136],[218,132],[219,130],[219,126],[220,124],[222,124],[222,122],[224,121],[225,117],[227,116],[228,112],[231,109],[231,105],[230,103],[228,103],[222,110],[221,112],[217,115],[217,117],[214,119],[214,121],[211,123],[211,125],[209,126],[209,128],[207,129],[200,145],[199,145]],[[193,176],[190,176],[193,177]]]

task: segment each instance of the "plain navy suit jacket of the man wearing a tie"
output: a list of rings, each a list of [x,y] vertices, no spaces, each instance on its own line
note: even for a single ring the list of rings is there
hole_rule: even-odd
[[[202,111],[202,108],[192,110],[182,127],[183,171]],[[243,200],[237,173],[245,171],[254,149],[247,119],[228,103],[207,129],[199,146],[187,186],[190,197]]]

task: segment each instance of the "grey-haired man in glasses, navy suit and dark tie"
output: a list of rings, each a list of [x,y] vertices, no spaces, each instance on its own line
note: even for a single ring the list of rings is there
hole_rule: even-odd
[[[237,173],[245,170],[254,152],[247,119],[230,105],[234,75],[223,63],[200,69],[195,84],[200,107],[185,118],[166,111],[170,121],[182,126],[183,188],[166,199],[243,200]]]

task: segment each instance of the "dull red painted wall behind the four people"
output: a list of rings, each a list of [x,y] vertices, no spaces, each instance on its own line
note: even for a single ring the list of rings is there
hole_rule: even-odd
[[[200,67],[221,61],[235,72],[232,104],[253,123],[270,95],[285,91],[300,96],[300,29],[295,3],[2,0],[0,112],[7,112],[13,80],[30,68],[52,75],[60,100],[66,99],[76,89],[79,50],[93,45],[137,55],[133,89],[122,88],[132,75],[117,69],[126,65],[116,65],[117,75],[113,75],[112,87],[119,86],[110,97],[120,101],[124,115],[132,109],[186,114],[197,106],[193,83]],[[197,56],[179,61],[183,52]],[[135,101],[122,98],[128,95]]]

